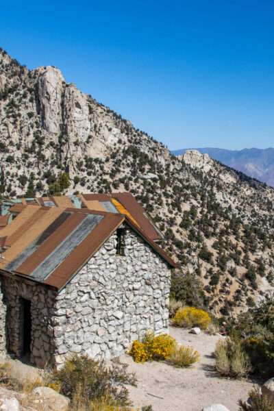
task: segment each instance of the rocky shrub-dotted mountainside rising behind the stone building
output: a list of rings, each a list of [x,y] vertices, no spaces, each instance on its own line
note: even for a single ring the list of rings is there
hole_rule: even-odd
[[[274,190],[190,151],[175,157],[52,66],[0,51],[2,197],[128,190],[210,310],[253,304],[274,275]]]

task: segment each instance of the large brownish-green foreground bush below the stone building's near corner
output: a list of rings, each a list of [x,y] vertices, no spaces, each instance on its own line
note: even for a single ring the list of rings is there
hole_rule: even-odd
[[[60,393],[72,400],[76,410],[81,401],[89,406],[90,402],[105,398],[110,406],[130,405],[125,385],[136,386],[136,377],[127,373],[127,365],[118,360],[106,366],[103,360],[72,356],[62,369],[52,371],[51,382],[58,384]]]

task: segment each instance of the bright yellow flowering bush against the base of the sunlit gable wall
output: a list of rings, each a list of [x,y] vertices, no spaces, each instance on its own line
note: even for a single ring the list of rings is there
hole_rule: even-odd
[[[155,336],[153,333],[147,332],[142,341],[134,341],[129,355],[134,358],[135,362],[166,360],[175,346],[175,339],[168,334]]]

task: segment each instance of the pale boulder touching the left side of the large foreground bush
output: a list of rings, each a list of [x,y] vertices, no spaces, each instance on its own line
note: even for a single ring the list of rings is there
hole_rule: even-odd
[[[45,403],[49,411],[66,411],[69,408],[69,398],[57,393],[52,388],[37,387],[32,393]]]

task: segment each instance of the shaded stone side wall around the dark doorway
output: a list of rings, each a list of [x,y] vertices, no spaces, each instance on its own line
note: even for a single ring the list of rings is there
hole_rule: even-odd
[[[7,329],[8,350],[21,357],[23,349],[23,306],[21,297],[31,301],[32,342],[31,362],[45,366],[52,362],[55,347],[53,339],[53,312],[55,290],[24,279],[1,278],[3,301],[7,314],[3,319]],[[1,347],[0,347],[1,348]]]

